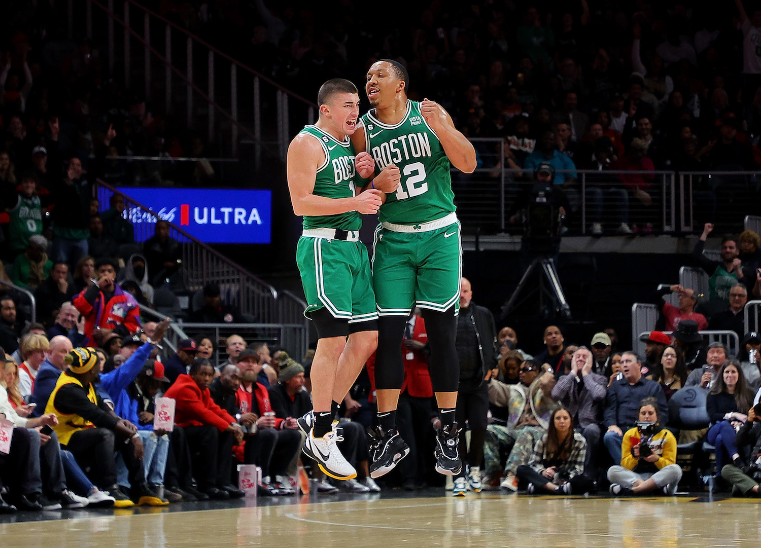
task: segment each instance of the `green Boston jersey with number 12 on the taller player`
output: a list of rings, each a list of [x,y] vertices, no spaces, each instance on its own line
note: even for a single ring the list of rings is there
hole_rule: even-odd
[[[399,188],[380,206],[380,221],[419,224],[454,211],[449,158],[420,113],[420,103],[407,100],[404,119],[396,125],[378,122],[374,113],[362,116],[362,123],[375,173],[393,163],[402,176]]]

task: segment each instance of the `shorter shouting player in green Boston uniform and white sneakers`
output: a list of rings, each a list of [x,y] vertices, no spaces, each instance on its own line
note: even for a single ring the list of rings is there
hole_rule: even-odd
[[[336,447],[333,417],[377,346],[377,312],[365,244],[359,241],[360,214],[374,214],[380,191],[358,192],[355,176],[373,174],[364,154],[355,163],[349,141],[359,116],[352,82],[336,78],[320,87],[320,117],[288,147],[288,189],[295,214],[304,216],[296,261],[307,309],[317,329],[312,363],[313,413],[298,420],[307,434],[304,453],[330,477],[348,480],[356,470]],[[379,182],[399,178],[387,169]],[[359,179],[358,179],[359,180]]]

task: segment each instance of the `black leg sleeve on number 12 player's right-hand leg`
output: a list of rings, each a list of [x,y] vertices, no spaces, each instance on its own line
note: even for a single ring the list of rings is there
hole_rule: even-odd
[[[457,316],[454,308],[446,312],[423,310],[425,332],[431,345],[428,369],[435,392],[456,392],[460,385],[460,363],[457,362]]]

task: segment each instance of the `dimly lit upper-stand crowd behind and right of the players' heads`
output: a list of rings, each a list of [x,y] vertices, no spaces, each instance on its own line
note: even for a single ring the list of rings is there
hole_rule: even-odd
[[[747,4],[747,5],[746,5]],[[556,184],[580,199],[576,169],[644,173],[587,176],[587,229],[653,230],[663,182],[656,169],[759,169],[761,10],[736,0],[680,2],[343,2],[335,13],[256,0],[164,2],[164,17],[302,97],[327,78],[357,84],[376,59],[406,65],[413,100],[441,103],[471,138],[498,138],[517,176],[541,160],[568,169]],[[372,24],[368,24],[372,21]],[[498,148],[479,143],[481,167]],[[495,160],[496,158],[496,160]],[[694,179],[699,222],[750,210],[743,177]],[[509,193],[508,193],[509,195]],[[569,211],[569,214],[572,213]]]

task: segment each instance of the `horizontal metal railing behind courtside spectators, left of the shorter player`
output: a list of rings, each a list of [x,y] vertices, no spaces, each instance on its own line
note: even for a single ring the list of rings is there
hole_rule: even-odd
[[[214,343],[216,363],[224,361],[224,341],[231,335],[240,335],[247,344],[256,342],[279,346],[296,361],[307,352],[307,333],[304,324],[180,324],[189,337],[209,337]]]

